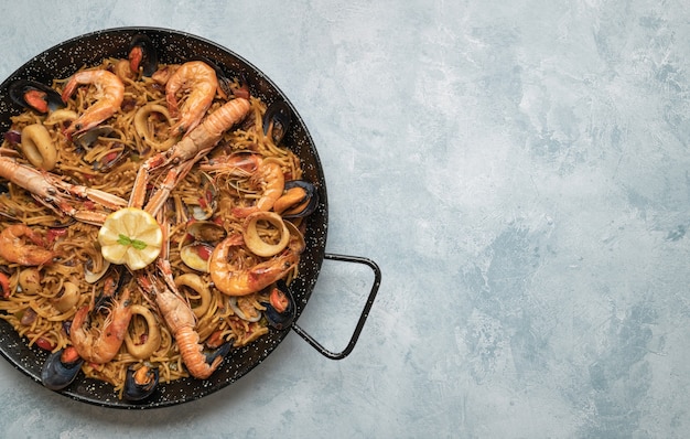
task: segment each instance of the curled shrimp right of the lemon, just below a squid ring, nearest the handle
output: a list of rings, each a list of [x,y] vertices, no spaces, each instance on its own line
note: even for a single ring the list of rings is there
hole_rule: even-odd
[[[290,238],[290,245],[280,255],[249,268],[241,268],[229,263],[231,253],[244,244],[240,234],[233,234],[216,246],[208,270],[216,288],[227,296],[247,296],[257,292],[281,279],[300,261],[304,249],[303,238]],[[298,244],[299,243],[299,244]]]

